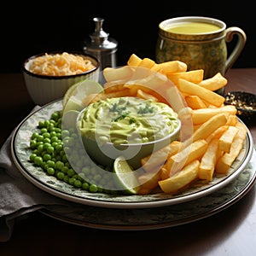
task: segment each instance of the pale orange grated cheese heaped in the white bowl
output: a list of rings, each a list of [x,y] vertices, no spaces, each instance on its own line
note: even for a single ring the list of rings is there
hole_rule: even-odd
[[[32,60],[29,71],[48,76],[67,76],[84,73],[96,67],[89,59],[83,56],[68,54],[49,55],[45,53]]]

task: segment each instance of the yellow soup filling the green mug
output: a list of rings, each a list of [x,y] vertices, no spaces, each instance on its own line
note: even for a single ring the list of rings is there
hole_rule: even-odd
[[[211,23],[203,22],[181,22],[169,26],[166,31],[177,34],[200,34],[207,32],[215,32],[220,29],[219,26]]]

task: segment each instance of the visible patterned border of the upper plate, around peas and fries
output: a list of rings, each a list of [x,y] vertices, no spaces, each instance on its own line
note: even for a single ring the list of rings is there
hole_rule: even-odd
[[[214,177],[212,182],[196,184],[177,195],[157,193],[154,195],[109,195],[106,193],[90,193],[47,175],[40,167],[33,166],[29,161],[31,149],[29,148],[32,132],[37,130],[38,121],[49,119],[55,111],[61,110],[61,101],[51,102],[34,113],[31,113],[17,127],[12,139],[12,156],[20,172],[38,188],[51,195],[58,196],[67,201],[94,207],[108,208],[150,208],[166,207],[188,201],[194,201],[203,196],[210,195],[218,189],[223,189],[234,181],[243,172],[253,155],[253,138],[247,130],[247,138],[241,153],[230,168],[227,175]]]

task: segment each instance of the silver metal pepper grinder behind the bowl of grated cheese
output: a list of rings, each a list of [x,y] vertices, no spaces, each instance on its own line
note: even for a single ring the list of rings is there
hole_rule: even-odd
[[[90,40],[85,41],[84,53],[94,55],[101,62],[101,70],[105,67],[116,67],[117,41],[108,38],[108,33],[102,30],[104,19],[94,18],[95,32],[90,34]]]

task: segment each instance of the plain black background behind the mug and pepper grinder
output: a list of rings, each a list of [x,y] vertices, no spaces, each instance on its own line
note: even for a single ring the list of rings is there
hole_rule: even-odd
[[[247,0],[239,5],[218,0],[205,3],[139,0],[5,2],[0,15],[0,73],[20,72],[22,61],[30,55],[51,50],[82,50],[84,40],[94,32],[94,17],[104,19],[103,30],[119,43],[118,66],[125,65],[133,53],[154,60],[160,21],[184,15],[203,15],[223,20],[228,27],[241,27],[247,34],[247,43],[233,67],[256,67],[252,3]]]

